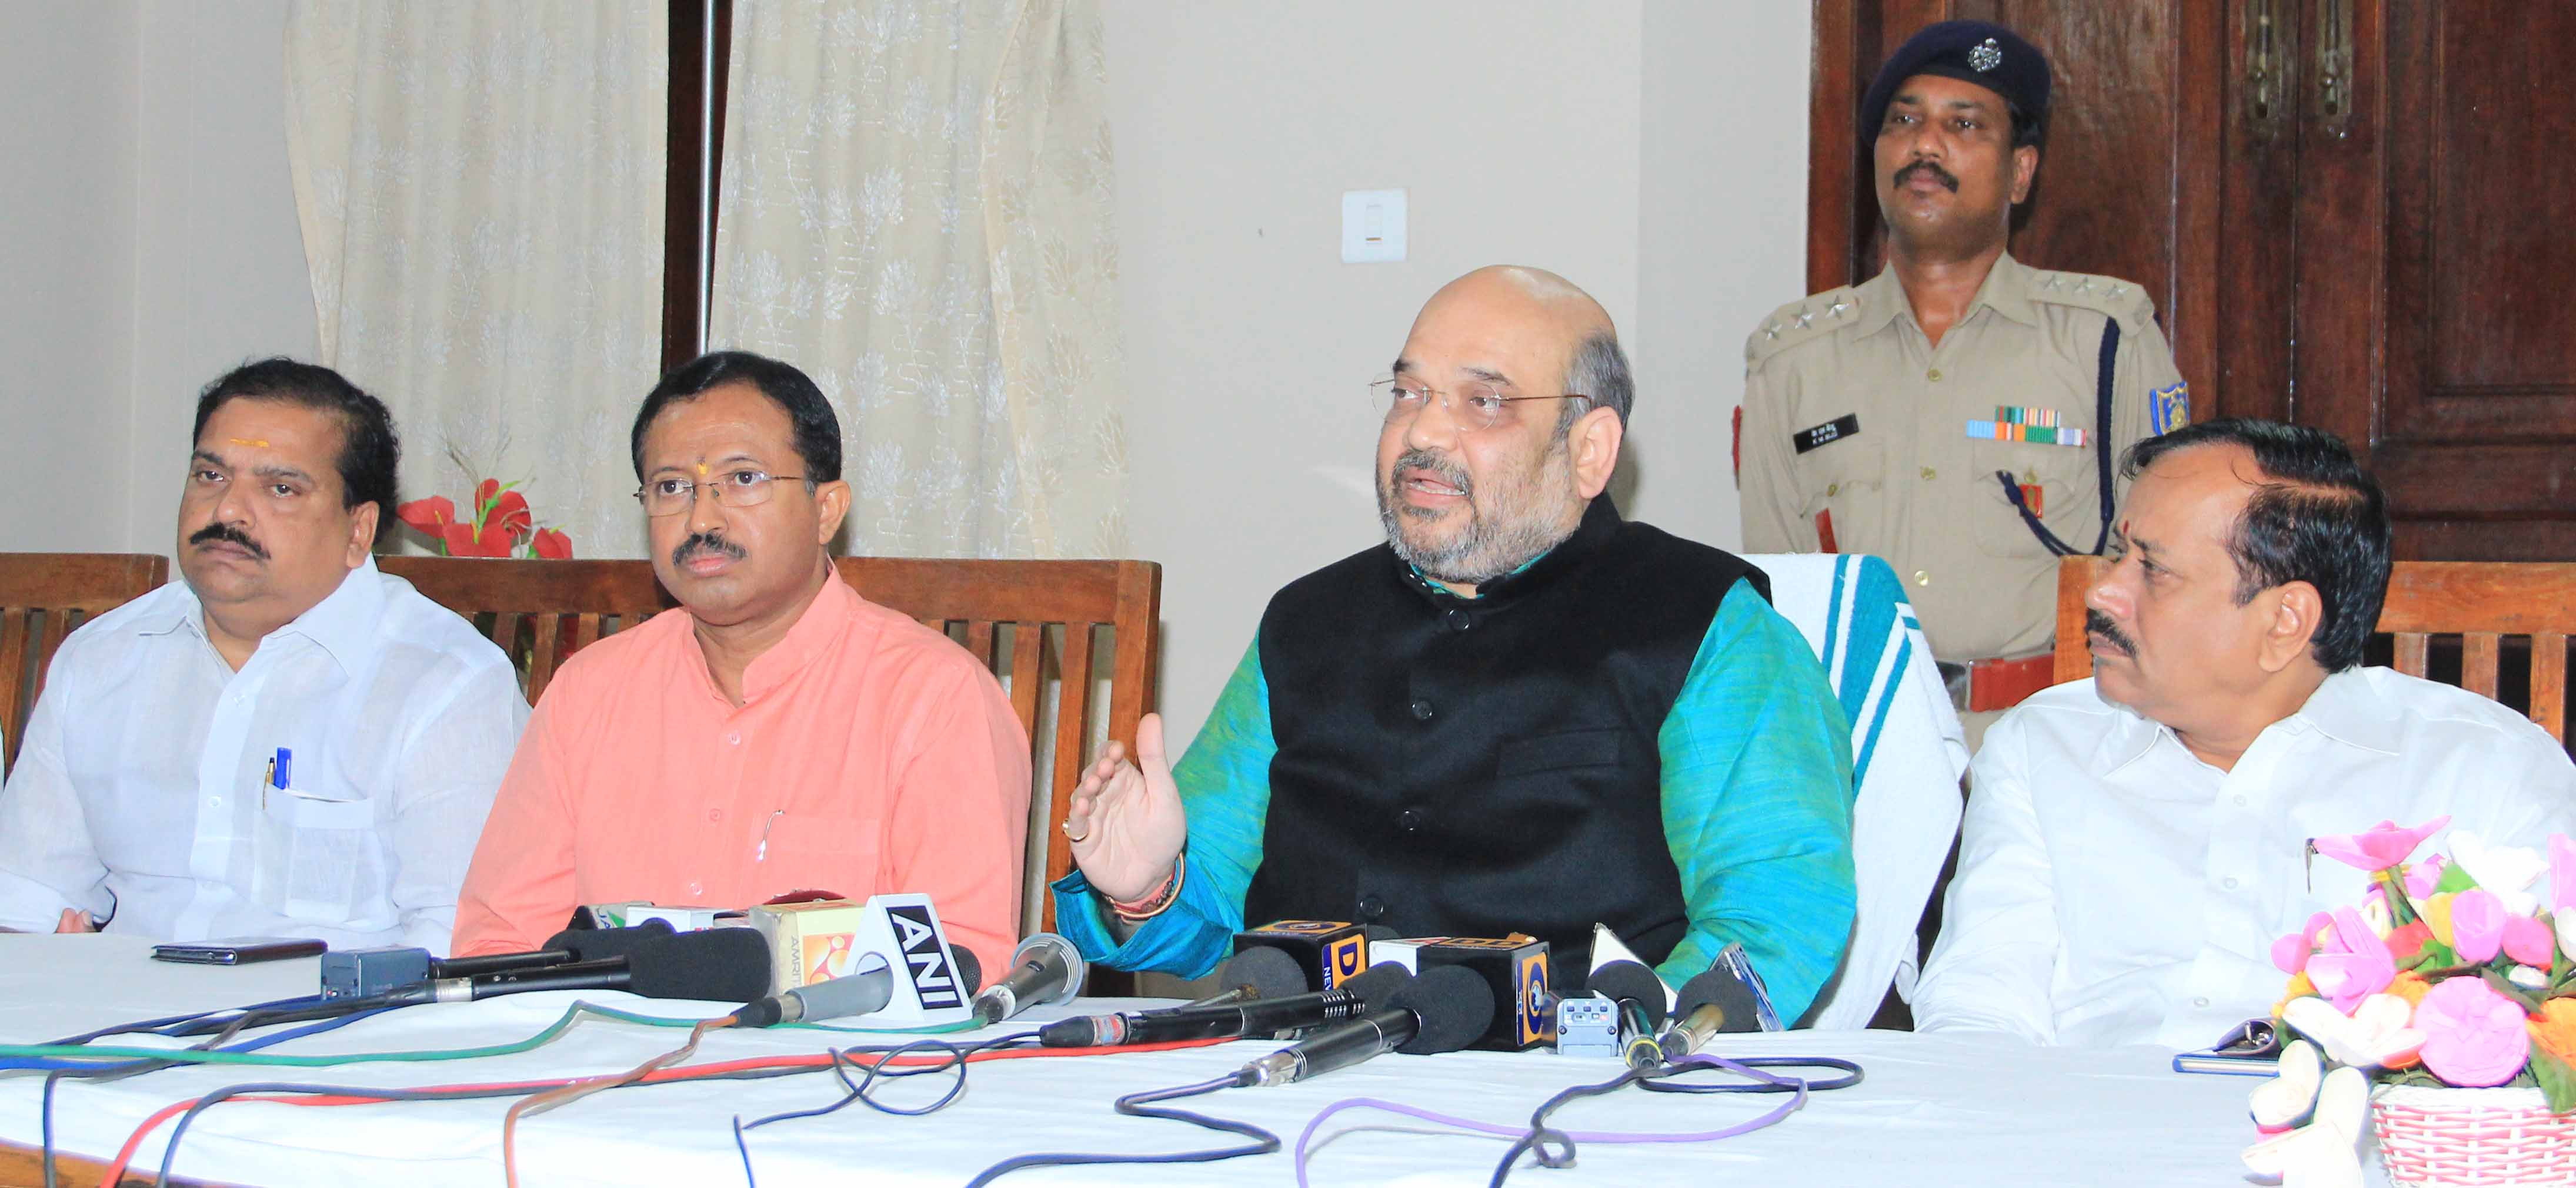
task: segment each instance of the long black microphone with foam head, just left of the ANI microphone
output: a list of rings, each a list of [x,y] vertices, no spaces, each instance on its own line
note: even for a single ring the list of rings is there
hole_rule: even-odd
[[[440,977],[389,990],[384,1005],[474,1003],[533,990],[629,990],[644,998],[703,998],[747,1003],[770,987],[770,949],[750,928],[706,928],[644,936],[621,944],[618,957],[595,957],[541,969],[505,969],[482,977]],[[361,1000],[348,1005],[363,1008]]]

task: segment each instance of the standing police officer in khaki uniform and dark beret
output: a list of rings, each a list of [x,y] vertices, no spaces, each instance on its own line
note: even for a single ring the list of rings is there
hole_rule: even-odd
[[[2048,684],[2058,555],[2099,550],[2117,453],[2190,391],[2143,288],[2004,252],[2048,126],[2038,49],[1929,26],[1860,121],[1888,267],[1747,339],[1744,548],[1888,558],[1973,746]]]

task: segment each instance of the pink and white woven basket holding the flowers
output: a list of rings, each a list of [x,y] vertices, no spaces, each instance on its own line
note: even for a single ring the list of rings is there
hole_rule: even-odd
[[[2576,1113],[2537,1088],[2380,1085],[2370,1129],[2398,1188],[2576,1185]]]

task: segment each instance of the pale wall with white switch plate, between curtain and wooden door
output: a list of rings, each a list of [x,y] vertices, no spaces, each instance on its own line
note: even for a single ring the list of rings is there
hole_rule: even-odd
[[[1623,509],[1736,545],[1744,332],[1801,296],[1808,10],[1783,0],[1105,0],[1133,553],[1182,746],[1280,584],[1378,540],[1365,383],[1489,262],[1564,273],[1638,370]],[[1342,190],[1409,257],[1340,260]],[[1613,491],[1628,491],[1628,481]]]

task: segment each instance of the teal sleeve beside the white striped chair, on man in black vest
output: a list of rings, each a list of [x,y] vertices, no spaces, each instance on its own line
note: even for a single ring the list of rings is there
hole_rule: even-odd
[[[1656,735],[1664,843],[1690,933],[1656,972],[1682,985],[1728,941],[1795,1021],[1842,964],[1852,885],[1852,725],[1816,653],[1739,581]]]

